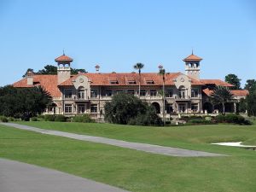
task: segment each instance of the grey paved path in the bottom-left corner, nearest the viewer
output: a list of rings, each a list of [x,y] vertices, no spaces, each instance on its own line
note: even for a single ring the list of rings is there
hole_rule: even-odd
[[[0,159],[0,192],[128,192],[64,172]]]

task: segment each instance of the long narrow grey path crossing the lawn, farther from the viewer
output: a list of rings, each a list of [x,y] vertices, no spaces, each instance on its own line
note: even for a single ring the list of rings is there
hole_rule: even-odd
[[[147,143],[132,143],[132,142],[125,142],[122,140],[116,139],[109,139],[105,137],[94,137],[88,135],[79,135],[70,132],[63,132],[63,131],[52,131],[52,130],[44,130],[32,126],[27,125],[19,125],[14,123],[1,123],[2,125],[8,125],[11,127],[15,127],[21,130],[27,131],[35,131],[47,135],[53,136],[61,136],[61,137],[68,137],[73,138],[81,141],[86,142],[93,142],[93,143],[103,143],[113,146],[118,146],[121,148],[132,148],[139,151],[149,152],[153,154],[165,154],[170,156],[178,156],[178,157],[212,157],[212,156],[226,156],[224,154],[212,154],[203,151],[195,151],[195,150],[188,150],[182,148],[171,148],[171,147],[163,147],[159,145],[147,144]]]

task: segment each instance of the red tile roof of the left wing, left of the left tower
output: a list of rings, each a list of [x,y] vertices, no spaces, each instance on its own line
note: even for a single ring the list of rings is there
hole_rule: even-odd
[[[57,75],[34,75],[33,79],[34,85],[41,85],[49,94],[53,97],[60,97],[61,91],[57,87],[58,77]],[[27,85],[26,78],[13,84],[14,87],[32,87],[34,85]]]

